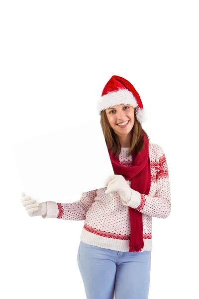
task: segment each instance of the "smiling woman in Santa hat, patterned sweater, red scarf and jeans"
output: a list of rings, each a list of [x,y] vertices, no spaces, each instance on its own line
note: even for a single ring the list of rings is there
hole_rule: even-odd
[[[171,211],[167,161],[142,129],[146,112],[130,82],[112,76],[97,107],[115,173],[105,188],[72,203],[39,204],[24,193],[21,201],[30,216],[85,220],[77,258],[88,299],[147,299],[152,217]]]

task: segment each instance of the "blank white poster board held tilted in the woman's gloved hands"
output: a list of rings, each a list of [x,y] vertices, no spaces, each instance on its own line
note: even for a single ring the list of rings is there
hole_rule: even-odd
[[[114,174],[99,120],[17,140],[12,150],[21,192],[38,202],[79,200]]]

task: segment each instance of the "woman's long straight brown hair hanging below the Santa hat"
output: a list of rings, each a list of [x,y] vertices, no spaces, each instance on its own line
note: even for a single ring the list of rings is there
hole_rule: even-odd
[[[106,146],[114,154],[114,158],[115,158],[119,155],[121,151],[121,145],[119,143],[118,135],[116,135],[113,129],[110,127],[105,110],[101,111],[100,116],[101,116],[100,124],[103,131],[103,136],[105,138]],[[137,152],[142,151],[144,147],[142,134],[145,134],[150,145],[149,136],[142,129],[142,125],[136,119],[136,109],[134,109],[134,117],[135,117],[135,122],[131,130],[131,145],[128,150],[127,156],[132,154],[133,149],[135,149]]]

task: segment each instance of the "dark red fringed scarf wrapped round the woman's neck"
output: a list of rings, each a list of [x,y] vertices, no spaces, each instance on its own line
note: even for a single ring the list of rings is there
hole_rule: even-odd
[[[142,152],[133,150],[132,166],[123,166],[120,164],[119,157],[114,159],[112,152],[109,152],[110,160],[114,170],[114,174],[121,174],[125,180],[131,179],[131,189],[134,189],[142,194],[148,195],[151,187],[151,170],[149,158],[149,145],[146,135],[143,134],[144,149]],[[130,215],[131,236],[129,243],[129,252],[140,252],[144,247],[143,240],[143,222],[142,213],[128,207]]]

